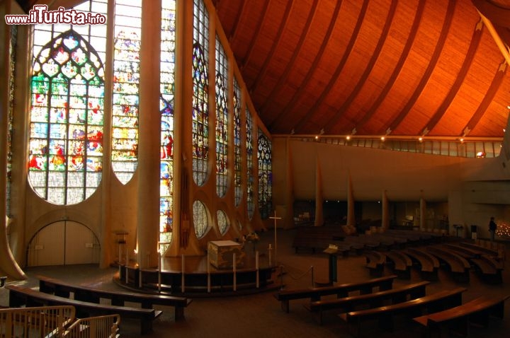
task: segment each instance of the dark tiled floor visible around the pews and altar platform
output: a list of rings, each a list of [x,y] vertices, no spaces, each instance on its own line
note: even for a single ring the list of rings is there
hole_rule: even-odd
[[[295,254],[292,239],[295,231],[278,231],[278,262],[285,272],[278,279],[282,280],[285,288],[293,289],[306,287],[315,280],[324,280],[328,276],[327,256],[322,254],[299,253]],[[273,241],[273,232],[261,234],[259,248],[267,247]],[[510,247],[509,247],[510,249]],[[507,252],[509,250],[507,249]],[[364,266],[363,256],[339,258],[339,282],[358,281],[369,278],[368,270]],[[94,266],[68,266],[68,267],[32,267],[26,269],[29,279],[15,282],[26,286],[37,286],[35,276],[45,274],[60,279],[66,279],[80,284],[91,285],[104,289],[118,288],[112,282],[116,269],[98,269]],[[391,274],[389,270],[385,274]],[[464,301],[476,298],[482,294],[510,295],[509,269],[504,272],[504,283],[501,285],[483,284],[474,273],[470,276],[468,284],[457,284],[447,272],[441,271],[439,281],[433,282],[427,289],[428,293],[440,289],[452,289],[463,286],[467,291],[463,295]],[[421,280],[418,272],[412,272],[410,281],[397,280],[395,286]],[[6,290],[0,289],[0,305],[6,305],[8,298]],[[154,330],[147,334],[147,338],[156,337],[351,337],[346,326],[337,319],[335,311],[329,311],[324,316],[324,325],[320,326],[317,320],[302,306],[306,301],[291,301],[290,313],[284,313],[280,304],[273,297],[273,292],[257,293],[250,296],[195,298],[186,308],[186,320],[174,321],[172,308],[159,307],[164,311],[162,317],[154,322]],[[492,320],[488,328],[472,327],[470,337],[508,337],[510,332],[510,302],[506,302],[504,320]],[[122,337],[139,337],[138,324],[135,321],[123,320],[120,325]],[[363,327],[365,337],[421,337],[419,327],[407,320],[397,320],[395,332],[379,330],[375,325]],[[505,333],[506,332],[506,333]]]

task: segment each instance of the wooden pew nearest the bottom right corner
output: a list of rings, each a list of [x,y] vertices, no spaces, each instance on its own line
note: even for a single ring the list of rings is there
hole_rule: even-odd
[[[447,328],[466,337],[470,322],[487,327],[489,317],[504,317],[504,302],[510,296],[487,297],[481,296],[462,305],[447,310],[422,315],[413,318],[424,329],[424,336],[441,337],[441,329]]]

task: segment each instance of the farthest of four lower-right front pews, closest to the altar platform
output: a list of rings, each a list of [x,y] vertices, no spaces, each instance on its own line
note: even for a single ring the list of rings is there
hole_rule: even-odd
[[[336,284],[334,286],[322,286],[309,289],[280,290],[274,296],[280,302],[282,310],[290,311],[289,302],[295,299],[310,298],[310,301],[319,301],[322,296],[336,295],[338,298],[347,297],[349,292],[359,291],[361,294],[372,293],[374,288],[378,291],[392,289],[393,280],[397,276],[383,276],[368,279],[357,283]]]

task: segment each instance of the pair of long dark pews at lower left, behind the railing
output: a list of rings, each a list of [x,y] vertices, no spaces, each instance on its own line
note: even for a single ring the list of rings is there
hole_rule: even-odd
[[[191,303],[191,299],[186,297],[106,291],[45,276],[38,276],[38,279],[39,290],[6,286],[9,290],[9,306],[72,305],[79,318],[118,314],[120,317],[140,320],[140,334],[147,334],[152,330],[152,322],[162,315],[162,310],[155,310],[154,305],[174,307],[175,320],[182,320],[184,308]],[[101,303],[102,299],[109,300],[109,304]],[[125,302],[140,303],[140,308],[125,306]]]

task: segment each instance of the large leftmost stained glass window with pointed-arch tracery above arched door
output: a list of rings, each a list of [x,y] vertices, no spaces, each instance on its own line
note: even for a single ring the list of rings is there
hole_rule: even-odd
[[[106,25],[35,25],[28,177],[48,202],[79,203],[101,182],[105,36]]]

